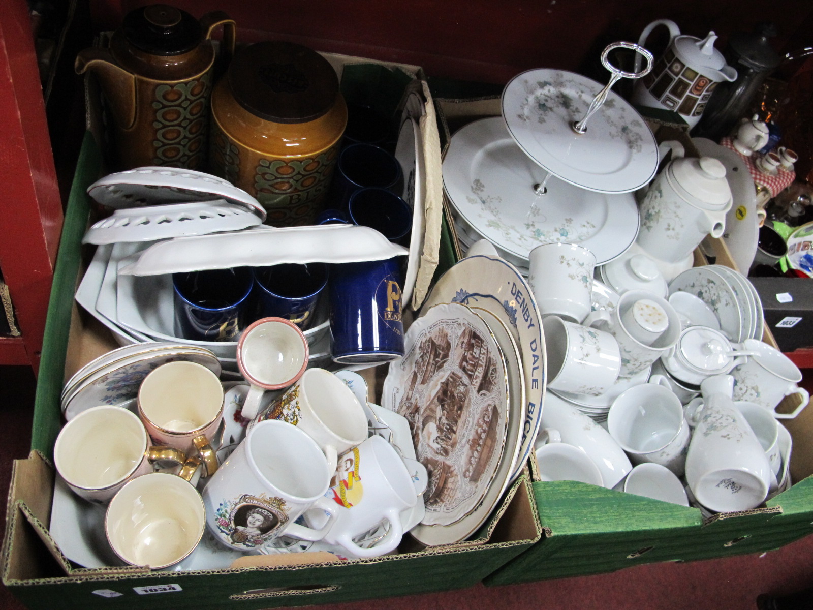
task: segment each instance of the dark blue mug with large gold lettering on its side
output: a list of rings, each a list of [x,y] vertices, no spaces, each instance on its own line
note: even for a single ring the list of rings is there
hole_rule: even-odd
[[[404,355],[398,257],[333,265],[329,293],[334,362],[381,363]]]

